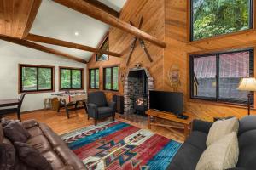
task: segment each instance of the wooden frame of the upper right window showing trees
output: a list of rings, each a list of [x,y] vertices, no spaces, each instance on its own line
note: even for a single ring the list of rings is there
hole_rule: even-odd
[[[205,37],[205,38],[201,38],[198,40],[194,40],[194,14],[193,14],[193,0],[189,0],[189,5],[188,5],[188,21],[189,21],[189,28],[188,28],[188,41],[189,42],[201,42],[201,41],[206,41],[209,39],[212,39],[214,37],[226,37],[226,36],[230,36],[230,35],[236,35],[242,32],[246,32],[246,31],[252,31],[255,29],[255,22],[256,22],[256,14],[255,14],[255,10],[254,8],[256,7],[255,3],[253,3],[253,0],[249,0],[250,1],[250,8],[249,8],[249,28],[247,30],[241,30],[241,31],[233,31],[230,33],[225,33],[225,34],[219,34],[216,36],[212,36],[212,37]]]

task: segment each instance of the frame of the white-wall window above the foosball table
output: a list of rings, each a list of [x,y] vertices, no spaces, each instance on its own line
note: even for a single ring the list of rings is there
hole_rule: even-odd
[[[61,88],[61,70],[69,70],[70,71],[70,87],[71,88]],[[72,71],[81,71],[81,88],[72,88]],[[76,68],[76,67],[59,67],[59,90],[84,90],[84,68]]]

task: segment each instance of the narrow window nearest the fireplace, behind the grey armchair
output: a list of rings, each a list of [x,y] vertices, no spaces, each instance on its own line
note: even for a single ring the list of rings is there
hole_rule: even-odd
[[[119,67],[113,66],[104,68],[103,70],[104,76],[104,89],[105,90],[119,90]]]

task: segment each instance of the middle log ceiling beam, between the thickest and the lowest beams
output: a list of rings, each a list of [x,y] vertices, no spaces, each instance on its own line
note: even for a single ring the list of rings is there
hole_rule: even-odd
[[[55,39],[55,38],[43,37],[43,36],[38,36],[38,35],[34,35],[34,34],[28,34],[28,36],[25,39],[33,41],[33,42],[43,42],[43,43],[49,43],[52,45],[58,45],[58,46],[66,47],[66,48],[75,48],[75,49],[80,49],[80,50],[84,50],[84,51],[90,51],[90,52],[94,52],[97,54],[108,54],[113,57],[121,57],[122,56],[122,54],[105,51],[105,50],[102,50],[99,48],[91,48],[91,47],[81,45],[78,43],[66,42],[66,41]]]

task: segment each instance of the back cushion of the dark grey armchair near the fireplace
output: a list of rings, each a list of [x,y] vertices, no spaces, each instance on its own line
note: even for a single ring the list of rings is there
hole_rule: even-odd
[[[106,96],[103,92],[91,92],[88,94],[88,103],[95,104],[98,107],[108,105]]]

